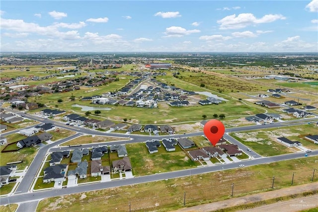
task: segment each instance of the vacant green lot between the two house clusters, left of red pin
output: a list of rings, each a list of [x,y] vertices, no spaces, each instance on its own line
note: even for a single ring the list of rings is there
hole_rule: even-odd
[[[175,146],[175,149],[176,151],[167,152],[161,145],[157,153],[150,154],[145,143],[127,145],[134,175],[170,172],[195,168],[200,165],[199,162],[190,160],[178,145]]]

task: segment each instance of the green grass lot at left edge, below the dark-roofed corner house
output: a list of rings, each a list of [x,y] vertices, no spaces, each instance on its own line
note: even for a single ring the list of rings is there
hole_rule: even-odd
[[[23,163],[17,164],[18,170],[23,170],[29,166],[36,155],[35,147],[26,147],[16,152],[2,152],[0,153],[0,165],[4,166],[6,163],[23,160]]]

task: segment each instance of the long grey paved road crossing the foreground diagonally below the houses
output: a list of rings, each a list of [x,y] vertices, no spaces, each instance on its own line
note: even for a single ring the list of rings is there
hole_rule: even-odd
[[[309,157],[317,156],[317,155],[318,155],[318,150],[315,150],[309,153]],[[166,173],[147,175],[147,176],[141,176],[141,177],[135,177],[135,178],[129,178],[129,179],[122,179],[122,180],[116,180],[116,181],[110,181],[110,182],[92,183],[92,184],[81,185],[77,187],[70,187],[66,189],[50,189],[45,191],[38,191],[33,193],[21,193],[21,194],[16,193],[15,195],[12,195],[9,197],[0,198],[0,205],[6,205],[8,204],[8,201],[9,203],[35,201],[35,200],[41,200],[43,198],[49,198],[49,197],[57,197],[57,196],[69,195],[69,194],[75,194],[75,193],[81,193],[81,192],[95,191],[95,190],[108,189],[108,188],[114,188],[114,187],[120,187],[120,186],[128,186],[133,184],[154,182],[154,181],[165,180],[165,179],[186,177],[190,175],[197,175],[197,174],[203,174],[203,173],[209,173],[209,172],[216,172],[216,171],[221,171],[226,169],[238,168],[239,164],[244,164],[245,166],[253,166],[258,164],[290,160],[290,159],[296,159],[296,158],[302,158],[302,157],[304,157],[304,153],[300,152],[300,153],[293,153],[293,154],[287,154],[287,155],[258,158],[255,160],[248,160],[248,161],[244,161],[240,163],[228,163],[228,164],[223,164],[222,166],[216,165],[216,166],[197,167],[193,169],[166,172]]]

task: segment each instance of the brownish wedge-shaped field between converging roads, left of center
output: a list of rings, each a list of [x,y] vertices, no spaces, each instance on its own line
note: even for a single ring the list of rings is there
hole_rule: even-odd
[[[121,137],[111,137],[111,136],[92,136],[92,135],[83,135],[63,144],[60,146],[68,146],[68,145],[78,145],[78,144],[88,144],[88,143],[101,143],[108,141],[119,141],[119,140],[127,140],[126,138]]]

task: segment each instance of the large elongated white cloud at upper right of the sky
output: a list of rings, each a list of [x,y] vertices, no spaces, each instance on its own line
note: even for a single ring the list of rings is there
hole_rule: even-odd
[[[217,23],[221,24],[220,29],[239,29],[251,24],[269,23],[278,19],[286,19],[286,17],[279,14],[268,14],[257,19],[252,13],[241,13],[238,16],[236,14],[228,15],[218,20]]]

